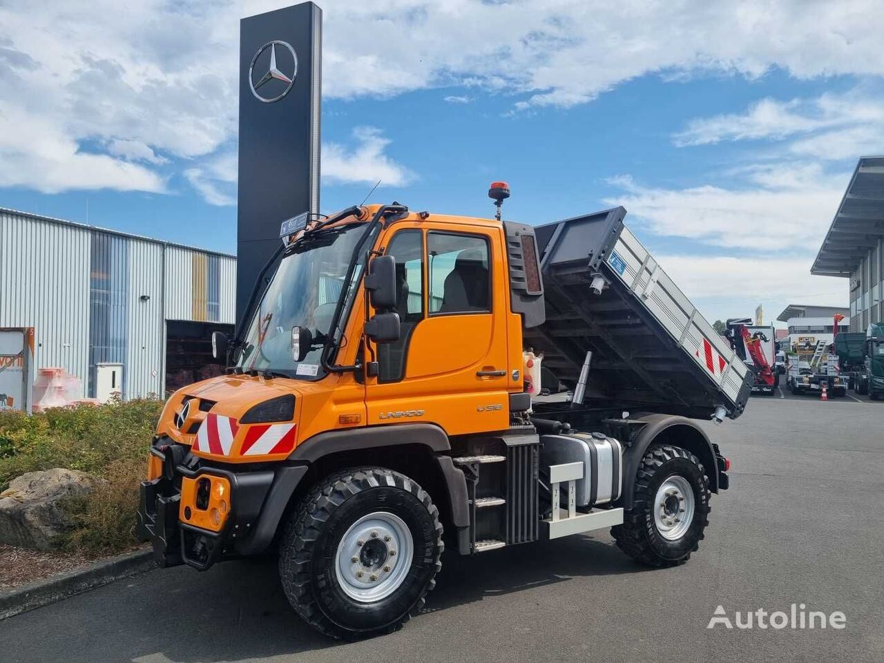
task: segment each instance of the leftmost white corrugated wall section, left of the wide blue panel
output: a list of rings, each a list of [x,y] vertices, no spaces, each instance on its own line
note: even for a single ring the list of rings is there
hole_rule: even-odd
[[[63,366],[84,387],[90,234],[0,210],[0,326],[34,327],[37,367]]]

